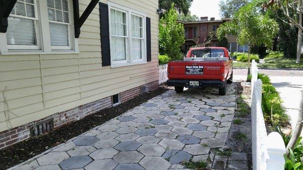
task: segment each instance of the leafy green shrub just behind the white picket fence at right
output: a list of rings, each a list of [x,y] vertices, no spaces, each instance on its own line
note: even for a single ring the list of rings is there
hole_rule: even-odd
[[[271,84],[267,75],[258,74],[258,79],[262,80],[262,110],[264,118],[273,125],[287,125],[288,116],[282,107],[282,99],[279,92]],[[271,114],[273,113],[273,115]]]

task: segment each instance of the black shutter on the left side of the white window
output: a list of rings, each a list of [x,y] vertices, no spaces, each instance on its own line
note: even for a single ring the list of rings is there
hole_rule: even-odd
[[[99,3],[102,66],[111,66],[109,6]]]

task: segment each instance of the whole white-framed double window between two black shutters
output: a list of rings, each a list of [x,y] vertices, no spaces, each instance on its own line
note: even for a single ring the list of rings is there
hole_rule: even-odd
[[[145,14],[109,2],[112,67],[146,63]]]

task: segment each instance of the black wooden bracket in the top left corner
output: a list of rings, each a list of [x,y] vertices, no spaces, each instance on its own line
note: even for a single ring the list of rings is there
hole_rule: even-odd
[[[8,18],[17,0],[0,0],[0,32],[6,33],[8,30]]]

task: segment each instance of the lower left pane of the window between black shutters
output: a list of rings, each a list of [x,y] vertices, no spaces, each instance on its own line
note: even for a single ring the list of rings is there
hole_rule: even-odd
[[[111,50],[113,61],[126,60],[126,41],[124,37],[114,37],[111,39]]]

